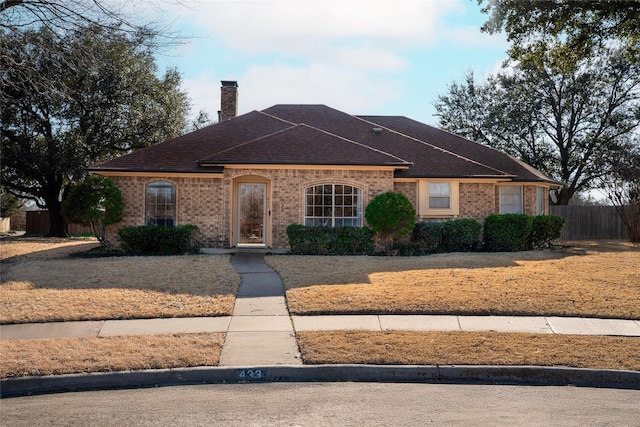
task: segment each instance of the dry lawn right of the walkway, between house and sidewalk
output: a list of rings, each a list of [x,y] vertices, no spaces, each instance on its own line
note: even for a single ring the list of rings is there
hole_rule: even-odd
[[[640,247],[412,258],[270,256],[293,314],[473,314],[640,319]]]

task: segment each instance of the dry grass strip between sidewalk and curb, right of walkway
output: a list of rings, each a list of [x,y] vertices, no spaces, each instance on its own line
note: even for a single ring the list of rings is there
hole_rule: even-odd
[[[640,339],[497,332],[298,332],[305,364],[536,365],[640,371]]]

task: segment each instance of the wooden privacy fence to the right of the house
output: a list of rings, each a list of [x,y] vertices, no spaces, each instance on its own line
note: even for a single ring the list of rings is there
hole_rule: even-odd
[[[565,219],[563,240],[627,239],[627,229],[614,206],[550,206]]]

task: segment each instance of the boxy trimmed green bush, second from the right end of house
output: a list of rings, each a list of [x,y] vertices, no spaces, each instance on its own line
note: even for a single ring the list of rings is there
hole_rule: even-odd
[[[484,221],[485,248],[494,252],[528,248],[533,218],[525,214],[489,215]]]

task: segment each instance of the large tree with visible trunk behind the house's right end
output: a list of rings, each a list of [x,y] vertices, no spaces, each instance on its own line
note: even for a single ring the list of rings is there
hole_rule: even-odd
[[[606,51],[574,66],[546,57],[485,83],[473,75],[435,102],[442,128],[502,149],[564,185],[568,204],[597,187],[640,126],[640,63]]]

